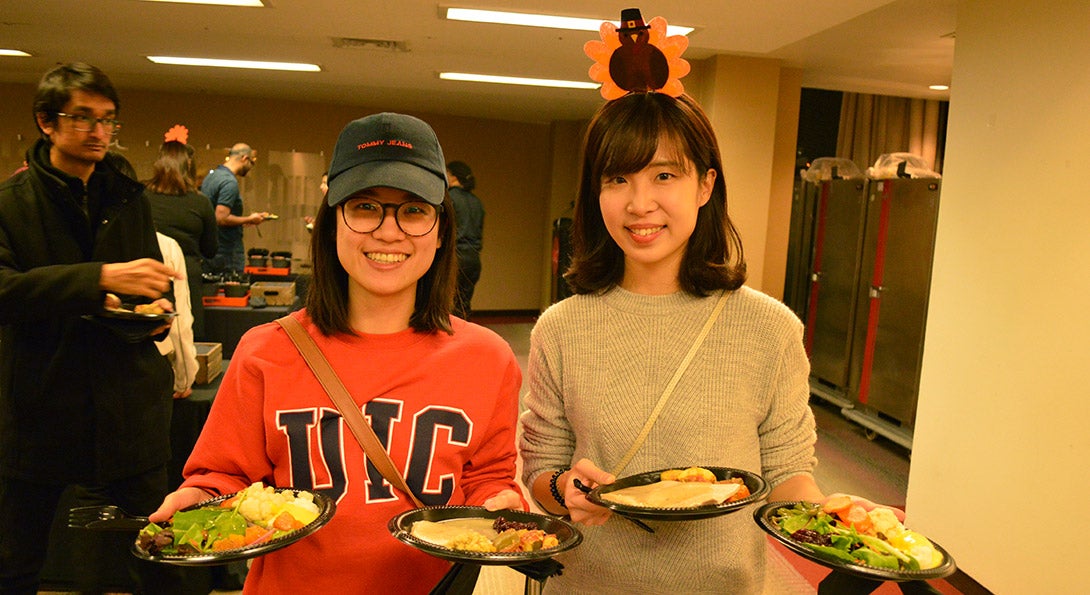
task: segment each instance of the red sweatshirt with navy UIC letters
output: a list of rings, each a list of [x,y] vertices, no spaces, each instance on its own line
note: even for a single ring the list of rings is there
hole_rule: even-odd
[[[504,489],[519,491],[522,374],[499,336],[452,318],[453,335],[325,337],[305,312],[293,316],[425,505],[481,505]],[[239,342],[184,474],[184,486],[219,494],[259,481],[337,501],[325,527],[254,560],[246,594],[427,593],[450,568],[390,535],[388,521],[412,505],[365,462],[276,323]]]

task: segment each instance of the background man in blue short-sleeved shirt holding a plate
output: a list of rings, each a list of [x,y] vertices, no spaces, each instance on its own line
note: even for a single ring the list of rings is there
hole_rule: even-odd
[[[242,274],[246,253],[242,243],[243,226],[259,226],[268,212],[243,216],[239,178],[245,178],[257,162],[257,151],[245,143],[238,143],[227,154],[223,163],[208,172],[201,182],[201,192],[211,201],[219,226],[219,248],[211,268],[218,271]]]

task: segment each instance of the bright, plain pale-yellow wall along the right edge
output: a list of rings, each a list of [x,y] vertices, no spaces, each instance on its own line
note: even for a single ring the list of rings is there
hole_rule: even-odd
[[[1090,3],[958,5],[908,523],[994,593],[1086,593]]]

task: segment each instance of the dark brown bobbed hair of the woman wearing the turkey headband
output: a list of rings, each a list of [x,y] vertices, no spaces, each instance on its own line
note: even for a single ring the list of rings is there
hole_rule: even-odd
[[[607,102],[591,120],[583,139],[579,195],[571,224],[571,267],[565,272],[576,293],[608,291],[625,275],[625,253],[602,220],[602,180],[642,170],[659,142],[678,151],[698,178],[715,170],[712,196],[697,215],[678,282],[693,295],[738,289],[746,282],[741,239],[727,216],[727,186],[715,131],[704,110],[688,95],[633,93]]]

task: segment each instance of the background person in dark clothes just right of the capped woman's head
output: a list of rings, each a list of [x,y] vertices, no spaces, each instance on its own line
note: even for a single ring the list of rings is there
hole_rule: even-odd
[[[458,296],[455,299],[455,314],[468,320],[472,311],[473,290],[481,279],[484,205],[473,194],[476,178],[464,162],[447,163],[447,180],[458,222]]]

